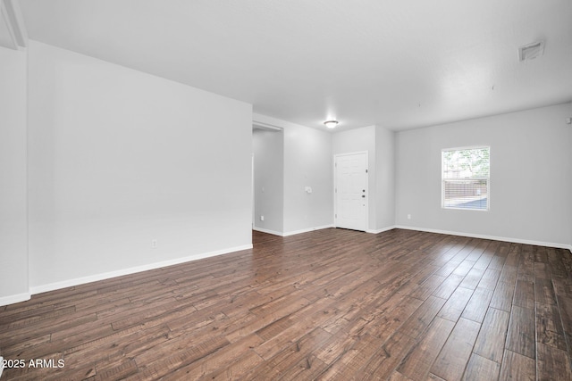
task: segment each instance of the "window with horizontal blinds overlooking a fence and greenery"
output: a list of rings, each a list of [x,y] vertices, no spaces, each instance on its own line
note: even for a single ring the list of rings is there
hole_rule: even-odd
[[[442,207],[489,210],[490,147],[442,150]]]

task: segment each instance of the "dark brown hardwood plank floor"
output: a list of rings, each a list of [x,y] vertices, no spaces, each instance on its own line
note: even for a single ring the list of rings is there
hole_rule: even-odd
[[[0,354],[25,362],[3,381],[568,380],[571,339],[568,250],[399,229],[255,232],[0,307]]]

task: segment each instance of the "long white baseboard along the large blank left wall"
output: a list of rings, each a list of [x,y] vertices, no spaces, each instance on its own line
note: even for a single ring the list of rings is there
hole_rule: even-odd
[[[86,283],[97,282],[98,280],[105,280],[112,277],[122,277],[124,275],[135,274],[141,271],[147,271],[150,269],[161,269],[164,267],[177,265],[180,263],[185,263],[189,261],[198,261],[204,258],[215,257],[217,255],[223,255],[228,253],[240,252],[241,250],[252,249],[252,244],[245,244],[243,246],[231,247],[228,249],[217,250],[209,253],[199,253],[195,255],[189,255],[187,257],[181,257],[170,261],[161,261],[156,263],[149,263],[147,265],[137,266],[129,269],[120,269],[116,271],[105,272],[102,274],[95,274],[88,277],[77,277],[75,279],[64,280],[62,282],[50,283],[48,285],[33,286],[30,287],[31,294],[41,294],[48,291],[59,290],[61,288],[84,285]]]

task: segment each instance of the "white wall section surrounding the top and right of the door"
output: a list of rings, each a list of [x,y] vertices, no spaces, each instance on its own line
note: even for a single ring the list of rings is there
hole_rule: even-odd
[[[367,228],[372,231],[377,228],[377,161],[375,151],[375,126],[350,129],[333,134],[332,155],[367,152],[367,197],[369,197],[367,203]]]

